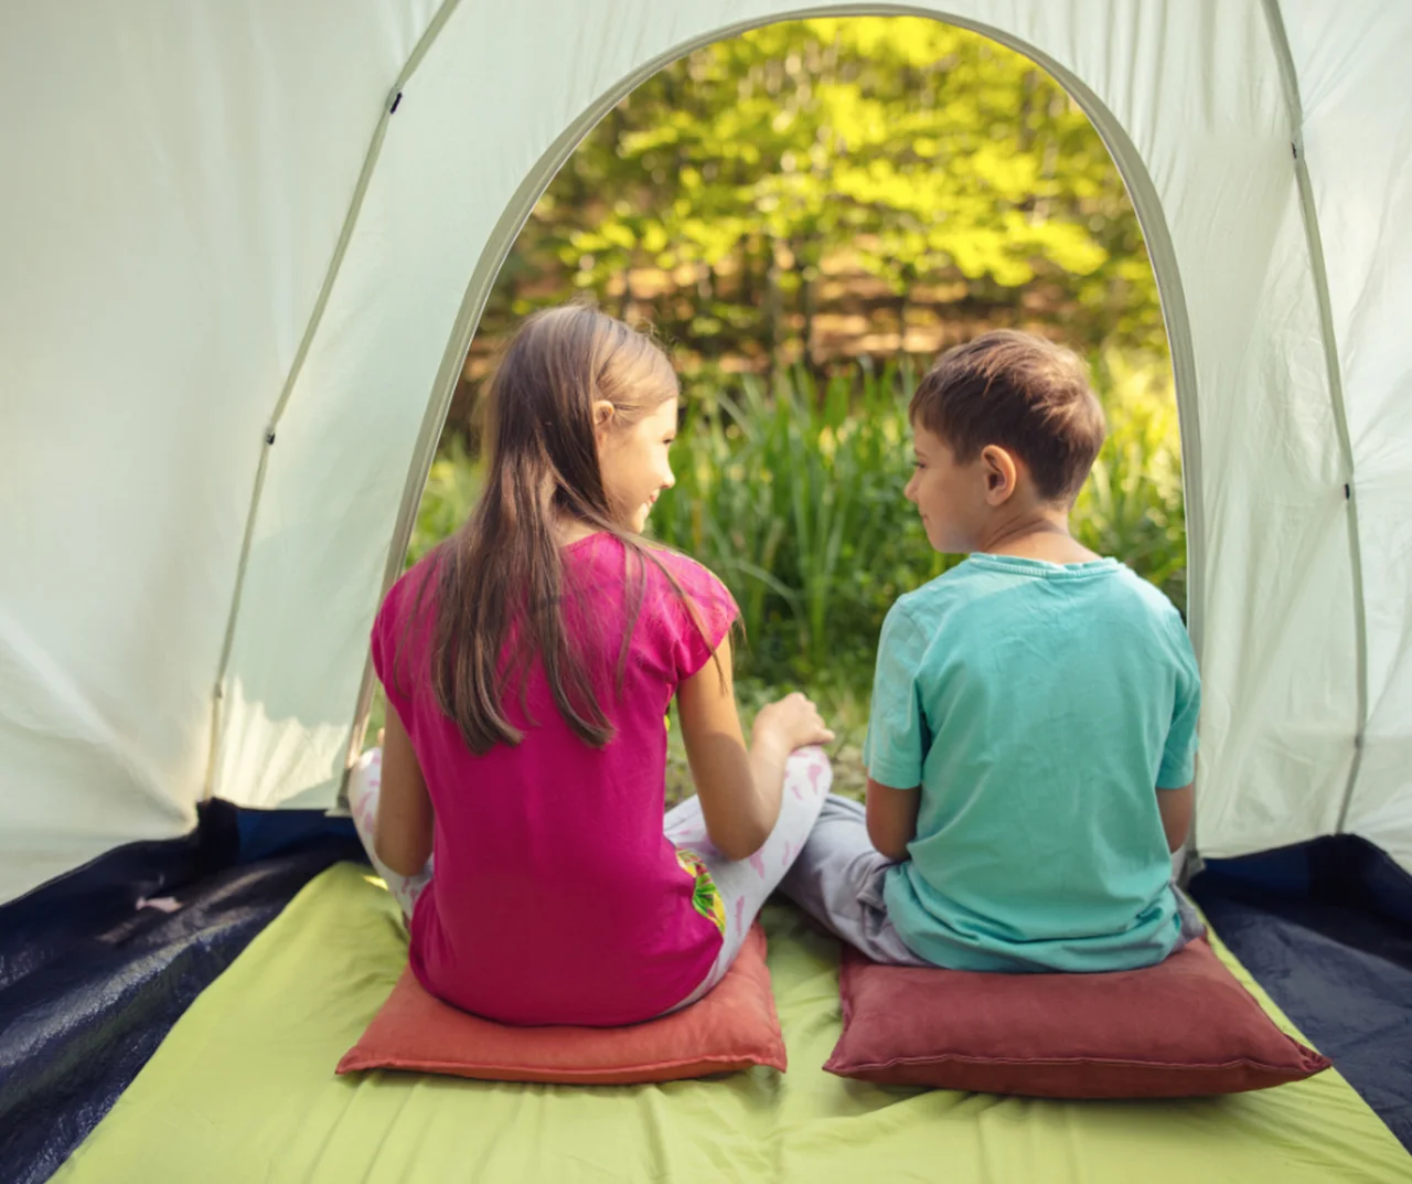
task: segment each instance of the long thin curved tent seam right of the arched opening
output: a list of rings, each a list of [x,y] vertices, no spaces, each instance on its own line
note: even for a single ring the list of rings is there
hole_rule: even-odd
[[[1339,818],[1334,834],[1343,834],[1348,824],[1348,810],[1353,793],[1363,770],[1364,735],[1368,728],[1368,612],[1363,578],[1363,538],[1358,523],[1358,492],[1354,480],[1353,435],[1348,431],[1348,408],[1343,393],[1343,366],[1339,362],[1339,339],[1333,328],[1333,304],[1329,298],[1329,270],[1324,263],[1323,235],[1319,230],[1319,211],[1315,205],[1313,181],[1305,160],[1305,109],[1299,93],[1299,75],[1289,48],[1285,18],[1279,0],[1262,0],[1265,24],[1279,65],[1279,81],[1285,90],[1285,106],[1289,112],[1289,147],[1293,155],[1295,185],[1299,192],[1299,213],[1305,225],[1305,244],[1309,250],[1309,268],[1313,273],[1315,301],[1319,307],[1319,335],[1323,345],[1324,369],[1329,381],[1329,398],[1333,404],[1334,424],[1339,431],[1339,446],[1344,463],[1344,504],[1348,516],[1348,558],[1353,568],[1353,630],[1356,647],[1354,694],[1357,730],[1353,736],[1353,759],[1348,764],[1348,780],[1339,804]]]

